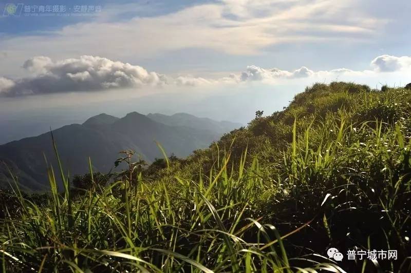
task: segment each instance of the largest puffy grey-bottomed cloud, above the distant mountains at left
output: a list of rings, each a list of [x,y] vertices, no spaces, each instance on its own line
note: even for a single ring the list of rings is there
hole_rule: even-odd
[[[55,62],[49,57],[37,56],[27,60],[23,67],[32,76],[16,81],[1,78],[3,94],[16,96],[167,84],[162,74],[98,56],[83,55],[79,59]]]

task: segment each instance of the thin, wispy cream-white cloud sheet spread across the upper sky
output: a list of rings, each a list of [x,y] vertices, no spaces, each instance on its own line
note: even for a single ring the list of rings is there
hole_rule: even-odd
[[[10,62],[34,55],[65,59],[82,54],[129,60],[186,48],[251,55],[285,43],[370,41],[386,20],[367,15],[357,5],[356,0],[220,0],[150,17],[141,16],[139,7],[140,16],[118,22],[110,22],[108,15],[130,7],[107,5],[91,22],[40,35],[2,37],[0,51],[8,52]]]

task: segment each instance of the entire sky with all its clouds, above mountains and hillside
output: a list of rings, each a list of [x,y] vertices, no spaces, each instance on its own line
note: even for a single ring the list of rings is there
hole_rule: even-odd
[[[247,124],[315,82],[411,82],[409,0],[0,3],[0,143],[105,112]]]

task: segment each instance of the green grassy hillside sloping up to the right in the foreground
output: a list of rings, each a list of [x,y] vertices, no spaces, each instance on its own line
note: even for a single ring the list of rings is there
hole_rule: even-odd
[[[129,161],[81,198],[64,174],[59,194],[49,168],[49,201],[2,194],[3,269],[409,272],[410,103],[404,88],[315,84],[187,159]],[[348,261],[349,249],[398,258]]]

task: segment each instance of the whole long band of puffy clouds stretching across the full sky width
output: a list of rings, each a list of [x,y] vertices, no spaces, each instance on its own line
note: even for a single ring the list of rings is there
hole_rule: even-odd
[[[144,86],[204,86],[218,84],[240,84],[244,82],[277,83],[280,80],[336,79],[351,76],[376,76],[384,72],[411,72],[411,56],[381,55],[371,61],[372,70],[354,71],[346,68],[328,71],[313,71],[305,66],[293,71],[278,68],[265,69],[248,66],[244,72],[230,74],[219,79],[206,79],[191,75],[177,77],[157,72],[148,72],[141,66],[104,57],[83,55],[79,59],[53,61],[46,56],[33,57],[23,67],[31,73],[17,80],[0,77],[0,95],[21,96],[76,91],[98,91],[106,89],[141,88]]]

